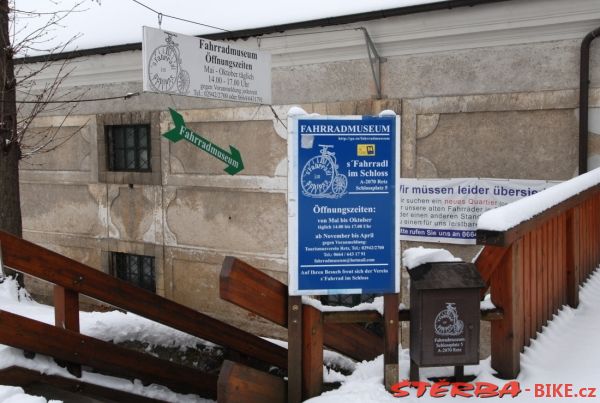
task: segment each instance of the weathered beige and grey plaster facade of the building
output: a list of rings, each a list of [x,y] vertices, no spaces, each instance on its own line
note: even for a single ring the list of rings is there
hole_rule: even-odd
[[[282,335],[221,301],[218,278],[233,255],[287,281],[291,106],[327,115],[394,110],[403,177],[577,174],[580,43],[600,26],[600,3],[479,3],[231,39],[272,54],[272,106],[141,93],[81,102],[66,120],[60,111],[38,118],[35,132],[61,127],[66,141],[21,165],[25,238],[219,319]],[[117,50],[73,59],[64,89],[85,90],[86,99],[141,92],[141,51]],[[590,169],[600,166],[600,41],[591,50]],[[161,138],[172,128],[168,108],[214,143],[234,145],[245,169],[227,175],[206,153]],[[477,251],[443,247],[465,259]],[[28,288],[49,293],[31,279]]]

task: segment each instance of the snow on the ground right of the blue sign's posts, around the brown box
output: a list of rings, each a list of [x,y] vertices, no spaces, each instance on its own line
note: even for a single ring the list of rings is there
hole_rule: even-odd
[[[536,384],[572,384],[572,393],[578,393],[580,388],[596,388],[596,397],[584,401],[600,401],[600,271],[584,284],[580,294],[581,303],[577,309],[563,309],[548,323],[530,347],[521,354],[521,373],[517,381],[522,392],[514,398],[519,402],[540,401],[573,401],[574,398],[542,398],[535,397]],[[400,352],[400,379],[408,378],[408,350]],[[465,374],[476,375],[472,382],[490,382],[500,388],[506,380],[493,375],[490,359],[480,361],[479,365],[465,367]],[[452,376],[453,368],[421,368],[421,381],[429,377]],[[362,362],[356,365],[354,373],[344,377],[342,386],[334,391],[326,392],[319,397],[310,399],[310,403],[383,403],[398,402],[383,388],[383,358]],[[526,389],[530,389],[527,391]],[[410,390],[410,389],[403,389]],[[562,389],[564,392],[564,387]],[[417,398],[416,390],[410,390],[411,396],[402,398],[404,402],[439,402],[440,400],[460,401],[469,398],[450,397],[434,398],[425,393]],[[470,398],[471,400],[473,398]],[[487,398],[497,400],[498,398]],[[502,401],[509,400],[504,396]],[[581,399],[581,398],[579,398]]]

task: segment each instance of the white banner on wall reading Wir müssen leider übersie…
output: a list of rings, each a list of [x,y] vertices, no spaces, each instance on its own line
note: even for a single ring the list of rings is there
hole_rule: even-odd
[[[400,181],[400,239],[475,244],[479,216],[556,181],[524,179],[406,179]]]

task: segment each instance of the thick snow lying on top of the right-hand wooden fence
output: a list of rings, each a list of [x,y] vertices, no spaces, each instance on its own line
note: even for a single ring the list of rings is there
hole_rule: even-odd
[[[600,168],[597,168],[534,195],[486,211],[479,217],[477,229],[506,231],[599,183]]]

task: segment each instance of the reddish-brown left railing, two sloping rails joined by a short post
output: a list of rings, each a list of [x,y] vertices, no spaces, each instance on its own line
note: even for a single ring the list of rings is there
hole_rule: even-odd
[[[18,337],[29,334],[30,329],[37,329],[36,334],[42,335],[49,331],[44,327],[48,325],[1,312],[0,343],[64,360],[75,375],[80,374],[80,365],[88,365],[148,382],[162,382],[174,390],[193,391],[206,397],[216,397],[217,390],[215,376],[191,368],[174,369],[169,375],[165,368],[175,366],[164,360],[140,358],[110,343],[79,334],[79,294],[219,344],[242,357],[287,368],[287,350],[281,346],[2,231],[0,253],[5,266],[55,284],[54,330],[59,338],[57,343],[49,344],[51,337]],[[15,334],[11,323],[21,326],[21,333]],[[25,342],[28,344],[22,344]],[[82,344],[88,348],[80,351]],[[93,351],[89,349],[91,345]],[[186,370],[189,376],[183,375]],[[154,380],[153,373],[157,375]],[[188,381],[192,383],[190,387],[185,386]]]

